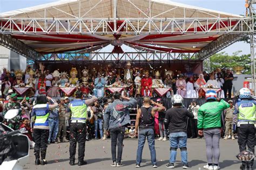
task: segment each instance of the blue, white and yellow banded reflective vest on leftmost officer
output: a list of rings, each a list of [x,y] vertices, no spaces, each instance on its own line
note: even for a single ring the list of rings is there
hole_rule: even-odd
[[[34,128],[49,128],[49,104],[38,104],[33,106],[36,115]]]

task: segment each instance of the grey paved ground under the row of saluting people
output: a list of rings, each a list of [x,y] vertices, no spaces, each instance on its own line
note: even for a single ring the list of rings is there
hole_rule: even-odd
[[[33,151],[30,151],[30,161],[25,169],[117,169],[111,167],[110,140],[91,140],[86,141],[85,160],[88,162],[84,166],[69,165],[69,143],[51,144],[48,147],[46,159],[48,165],[35,166]],[[204,139],[189,139],[187,142],[188,161],[190,169],[201,169],[206,164],[205,142]],[[235,158],[238,154],[237,140],[220,141],[220,167],[221,169],[239,169],[240,162]],[[134,169],[137,151],[137,139],[125,139],[123,149],[123,167],[120,169]],[[157,169],[167,169],[165,165],[169,162],[169,141],[157,141]],[[182,169],[180,164],[180,152],[177,154],[177,164],[175,169]],[[77,164],[77,160],[76,160]],[[147,143],[144,147],[143,162],[140,169],[153,169],[150,162],[150,152]]]

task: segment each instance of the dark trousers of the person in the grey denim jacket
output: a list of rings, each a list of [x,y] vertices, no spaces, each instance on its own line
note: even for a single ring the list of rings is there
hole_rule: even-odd
[[[117,163],[122,160],[124,132],[124,127],[110,129],[112,160]]]

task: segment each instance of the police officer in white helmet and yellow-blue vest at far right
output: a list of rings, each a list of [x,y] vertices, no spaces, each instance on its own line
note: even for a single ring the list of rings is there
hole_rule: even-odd
[[[256,102],[251,99],[251,91],[247,88],[242,88],[239,91],[239,98],[235,104],[234,114],[238,114],[238,144],[240,152],[248,150],[254,153],[255,141],[255,105]],[[240,169],[253,169],[253,160],[242,161]]]

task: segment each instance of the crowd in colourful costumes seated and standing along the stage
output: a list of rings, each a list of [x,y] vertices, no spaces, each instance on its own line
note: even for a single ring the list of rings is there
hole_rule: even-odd
[[[160,73],[161,72],[161,73]],[[127,97],[159,97],[155,88],[169,88],[164,97],[180,94],[183,98],[202,98],[205,96],[203,87],[218,88],[220,98],[231,98],[233,74],[230,69],[216,69],[211,73],[201,74],[177,71],[148,71],[136,70],[131,63],[125,69],[89,70],[72,67],[70,73],[59,70],[45,69],[43,64],[33,70],[30,65],[26,70],[3,69],[1,75],[2,97],[8,96],[12,87],[30,87],[26,96],[47,94],[50,97],[64,97],[59,87],[78,87],[84,95],[92,94],[97,97],[110,96],[105,87],[123,87],[123,94]],[[161,97],[161,96],[160,96]]]

